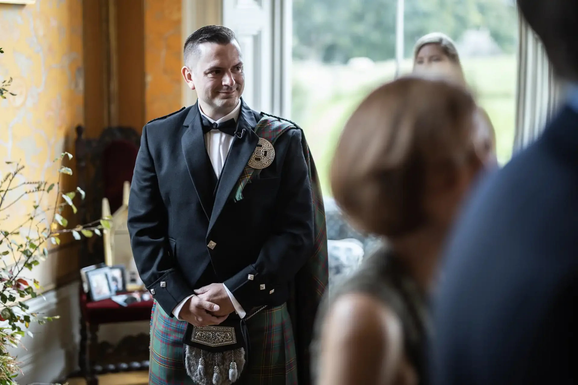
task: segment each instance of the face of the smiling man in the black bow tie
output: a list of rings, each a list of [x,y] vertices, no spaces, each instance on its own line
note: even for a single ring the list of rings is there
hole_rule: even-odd
[[[198,48],[195,57],[189,59],[191,81],[187,83],[197,90],[199,101],[212,110],[205,113],[228,113],[239,102],[244,88],[239,45],[202,43]]]

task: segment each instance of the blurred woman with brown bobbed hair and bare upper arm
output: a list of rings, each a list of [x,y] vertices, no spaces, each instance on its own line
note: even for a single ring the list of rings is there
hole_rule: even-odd
[[[387,238],[332,291],[312,345],[318,385],[424,384],[426,298],[472,181],[492,158],[476,104],[447,81],[402,78],[360,104],[331,167],[336,202]]]

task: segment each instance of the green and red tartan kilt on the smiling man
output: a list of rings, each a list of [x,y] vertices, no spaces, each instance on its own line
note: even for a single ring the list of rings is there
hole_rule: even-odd
[[[149,384],[192,385],[183,364],[185,321],[154,301],[150,328]],[[247,321],[250,357],[236,384],[298,385],[297,353],[287,304],[264,309]]]

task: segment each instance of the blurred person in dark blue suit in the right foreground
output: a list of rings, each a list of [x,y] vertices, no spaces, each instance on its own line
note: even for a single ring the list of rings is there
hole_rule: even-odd
[[[578,1],[517,3],[570,92],[458,222],[434,301],[434,385],[578,384]]]

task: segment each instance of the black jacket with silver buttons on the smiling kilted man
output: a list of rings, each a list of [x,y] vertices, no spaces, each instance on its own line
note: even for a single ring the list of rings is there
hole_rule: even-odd
[[[275,142],[275,160],[232,190],[257,145],[260,114],[242,101],[238,132],[217,180],[197,104],[143,128],[128,204],[140,278],[164,311],[194,289],[223,282],[246,311],[287,301],[288,284],[312,255],[313,203],[301,130]]]

